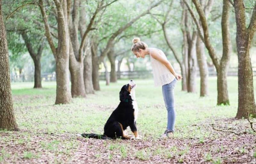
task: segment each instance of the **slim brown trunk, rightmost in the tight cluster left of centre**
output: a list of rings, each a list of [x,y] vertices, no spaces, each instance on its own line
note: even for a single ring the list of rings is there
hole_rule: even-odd
[[[99,57],[97,55],[96,44],[92,43],[92,83],[95,91],[100,91],[100,79],[99,79]]]

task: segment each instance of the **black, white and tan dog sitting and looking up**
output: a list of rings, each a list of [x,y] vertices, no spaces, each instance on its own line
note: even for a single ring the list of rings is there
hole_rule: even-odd
[[[119,92],[120,103],[117,108],[109,116],[108,121],[104,126],[104,134],[99,135],[95,133],[81,134],[86,138],[98,139],[141,139],[136,125],[138,118],[138,105],[135,98],[136,84],[130,80],[128,84],[124,85]],[[128,136],[124,130],[130,126],[134,136]]]

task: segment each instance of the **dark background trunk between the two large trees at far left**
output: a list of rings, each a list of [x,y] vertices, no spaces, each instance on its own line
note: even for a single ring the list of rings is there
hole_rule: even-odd
[[[42,79],[41,79],[41,56],[37,56],[33,59],[35,65],[35,74],[34,74],[34,88],[42,88]]]

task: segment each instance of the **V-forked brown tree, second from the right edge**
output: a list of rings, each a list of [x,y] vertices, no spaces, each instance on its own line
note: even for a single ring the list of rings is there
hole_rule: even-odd
[[[207,19],[206,19],[202,5],[198,2],[198,0],[192,0],[193,4],[196,6],[197,13],[199,14],[204,35],[201,32],[199,22],[196,19],[194,12],[191,10],[191,7],[188,5],[186,0],[183,0],[183,2],[186,4],[196,24],[199,36],[204,42],[205,47],[208,49],[209,55],[217,71],[217,90],[218,90],[217,105],[221,105],[221,104],[229,105],[227,74],[228,74],[230,49],[231,49],[230,34],[229,34],[230,4],[228,0],[223,0],[222,18],[221,18],[222,57],[221,59],[219,59],[216,53],[216,50],[213,48],[212,43],[210,41]]]

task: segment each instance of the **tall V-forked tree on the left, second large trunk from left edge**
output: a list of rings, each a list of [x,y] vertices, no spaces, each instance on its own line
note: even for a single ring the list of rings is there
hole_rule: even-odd
[[[48,23],[46,11],[43,0],[39,0],[39,7],[44,21],[45,36],[52,50],[56,62],[56,101],[55,104],[69,103],[71,92],[69,88],[68,77],[68,58],[69,58],[69,35],[68,35],[68,14],[67,1],[54,0],[57,10],[57,24],[58,24],[58,46],[54,45],[52,34],[50,32],[50,25]]]

